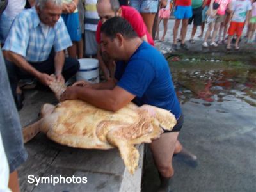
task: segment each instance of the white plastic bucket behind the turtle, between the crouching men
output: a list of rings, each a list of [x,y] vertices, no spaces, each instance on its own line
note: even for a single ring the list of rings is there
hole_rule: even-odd
[[[91,83],[99,83],[99,61],[92,58],[78,60],[80,68],[76,74],[76,81],[85,80]]]

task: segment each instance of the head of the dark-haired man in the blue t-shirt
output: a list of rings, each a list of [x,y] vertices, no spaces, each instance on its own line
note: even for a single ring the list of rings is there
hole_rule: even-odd
[[[129,49],[133,49],[134,45],[129,44],[129,42],[134,38],[138,38],[131,24],[122,17],[112,17],[104,22],[100,29],[100,35],[102,52],[116,61],[127,59],[125,58],[127,52]],[[138,40],[140,41],[140,38]]]

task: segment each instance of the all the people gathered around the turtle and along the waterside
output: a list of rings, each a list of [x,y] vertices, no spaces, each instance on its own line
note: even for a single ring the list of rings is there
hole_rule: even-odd
[[[195,43],[197,27],[202,26],[200,36],[203,37],[207,23],[203,47],[209,46],[209,36],[210,45],[217,47],[222,44],[228,31],[227,49],[231,49],[230,42],[234,35],[235,49],[239,49],[245,24],[248,26],[248,43],[252,43],[256,3],[250,0],[163,0],[160,3],[158,0],[131,0],[129,5],[127,3],[118,0],[5,1],[0,18],[3,50],[3,55],[0,52],[0,78],[1,82],[5,82],[0,88],[0,109],[5,114],[0,118],[3,138],[2,143],[0,137],[0,157],[4,159],[0,169],[4,173],[10,169],[9,187],[12,191],[19,191],[16,170],[28,157],[22,144],[17,113],[17,109],[22,109],[24,99],[18,82],[20,79],[36,78],[42,86],[49,86],[53,80],[51,74],[55,74],[58,81],[64,83],[79,70],[78,59],[84,56],[99,60],[106,81],[98,84],[77,82],[67,88],[61,100],[81,99],[111,111],[117,111],[132,101],[138,106],[150,104],[167,109],[175,115],[177,125],[173,130],[164,132],[161,138],[150,143],[161,179],[159,191],[168,190],[170,185],[174,174],[173,154],[183,154],[196,160],[196,156],[185,150],[177,140],[183,114],[168,63],[154,48],[154,23],[156,38],[159,38],[157,27],[163,20],[161,40],[164,40],[170,9],[175,7],[173,49],[177,49],[177,42],[180,42],[182,49],[188,49],[185,38],[188,24],[192,22],[191,44]],[[158,22],[156,19],[159,19]],[[182,27],[178,39],[180,22]],[[8,190],[3,187],[7,180],[2,182],[1,179],[0,189]]]

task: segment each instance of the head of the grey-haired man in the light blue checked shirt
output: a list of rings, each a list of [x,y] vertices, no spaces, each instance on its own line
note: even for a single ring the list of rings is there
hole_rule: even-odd
[[[42,23],[53,27],[62,13],[62,0],[37,0],[36,12]]]

